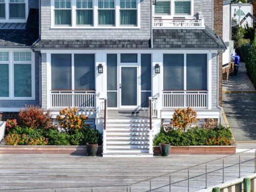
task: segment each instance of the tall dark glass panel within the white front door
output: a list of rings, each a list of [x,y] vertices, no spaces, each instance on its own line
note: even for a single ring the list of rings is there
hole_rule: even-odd
[[[121,82],[121,105],[137,105],[137,67],[122,67]]]

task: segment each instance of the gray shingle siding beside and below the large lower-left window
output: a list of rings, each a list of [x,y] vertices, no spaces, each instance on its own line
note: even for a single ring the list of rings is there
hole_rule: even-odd
[[[0,100],[0,108],[23,108],[26,105],[39,106],[39,55],[35,55],[35,100]]]

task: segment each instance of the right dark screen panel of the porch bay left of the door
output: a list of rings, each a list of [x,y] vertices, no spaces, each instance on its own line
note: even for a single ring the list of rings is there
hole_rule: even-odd
[[[94,54],[75,54],[75,90],[95,90]]]

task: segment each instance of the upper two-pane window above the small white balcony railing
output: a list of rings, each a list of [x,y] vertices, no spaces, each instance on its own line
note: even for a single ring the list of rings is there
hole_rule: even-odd
[[[193,16],[194,0],[157,0],[155,15]]]

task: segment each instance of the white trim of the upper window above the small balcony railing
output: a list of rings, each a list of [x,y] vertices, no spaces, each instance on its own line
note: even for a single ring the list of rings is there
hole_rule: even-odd
[[[165,0],[162,0],[165,1]],[[168,0],[166,0],[168,1]],[[190,7],[190,14],[187,15],[182,15],[182,14],[175,14],[175,1],[176,0],[169,0],[170,1],[170,14],[169,15],[161,15],[161,14],[155,14],[155,5],[153,5],[153,17],[162,17],[163,19],[171,19],[174,17],[185,17],[185,18],[192,18],[194,17],[194,0],[190,0],[191,2],[191,7]]]

